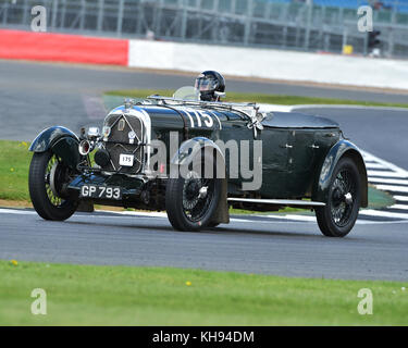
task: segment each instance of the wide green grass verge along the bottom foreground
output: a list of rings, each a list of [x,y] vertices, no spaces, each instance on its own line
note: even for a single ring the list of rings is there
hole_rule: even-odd
[[[0,274],[0,325],[408,324],[403,283],[5,261]],[[30,313],[34,288],[47,293],[47,315]],[[373,315],[358,314],[361,288]]]

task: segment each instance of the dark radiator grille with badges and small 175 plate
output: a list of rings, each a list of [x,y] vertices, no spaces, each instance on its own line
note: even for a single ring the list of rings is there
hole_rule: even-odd
[[[143,167],[144,146],[144,124],[132,115],[110,115],[107,117],[106,126],[111,127],[111,134],[108,142],[104,144],[106,150],[111,157],[110,164],[103,170],[114,171],[124,174],[137,174]],[[129,144],[128,134],[136,134],[135,144]],[[133,166],[121,166],[119,164],[121,154],[133,154]]]

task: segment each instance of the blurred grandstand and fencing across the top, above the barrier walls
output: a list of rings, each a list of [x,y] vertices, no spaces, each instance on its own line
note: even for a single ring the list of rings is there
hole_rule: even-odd
[[[357,29],[367,4],[370,35]],[[48,9],[48,32],[408,57],[408,0],[3,0],[0,26],[29,29],[35,5]]]

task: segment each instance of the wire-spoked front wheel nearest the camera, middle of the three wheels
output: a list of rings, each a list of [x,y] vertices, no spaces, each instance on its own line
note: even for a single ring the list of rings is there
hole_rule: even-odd
[[[214,169],[211,156],[205,156],[198,165]],[[221,179],[200,177],[197,169],[185,178],[171,178],[165,190],[165,209],[169,221],[178,231],[200,231],[209,226],[221,196]],[[203,175],[202,175],[203,176]],[[213,176],[215,177],[215,176]]]

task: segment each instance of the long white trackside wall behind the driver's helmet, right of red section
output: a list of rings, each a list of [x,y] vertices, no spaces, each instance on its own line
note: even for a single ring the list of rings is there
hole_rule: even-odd
[[[408,89],[408,61],[131,40],[129,66]]]

